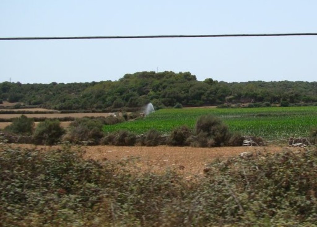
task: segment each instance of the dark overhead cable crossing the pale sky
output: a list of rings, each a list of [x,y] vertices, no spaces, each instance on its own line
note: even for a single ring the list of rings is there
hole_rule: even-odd
[[[0,37],[0,40],[50,40],[50,39],[148,39],[148,38],[203,38],[252,36],[317,36],[317,33],[223,34],[223,35],[163,35],[163,36],[61,36],[61,37]]]

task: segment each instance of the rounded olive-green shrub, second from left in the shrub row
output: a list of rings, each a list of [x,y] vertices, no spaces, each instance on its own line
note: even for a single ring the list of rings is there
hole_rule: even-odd
[[[33,139],[35,144],[53,145],[60,141],[64,132],[59,120],[46,119],[36,127]]]

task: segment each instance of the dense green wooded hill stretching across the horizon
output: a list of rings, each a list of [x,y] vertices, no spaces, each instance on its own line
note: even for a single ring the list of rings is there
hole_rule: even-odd
[[[317,102],[317,82],[303,81],[197,81],[190,72],[137,72],[118,81],[90,83],[22,84],[0,83],[0,103],[20,102],[24,107],[57,110],[118,109],[141,107],[152,102],[156,108],[210,106],[237,103]],[[21,107],[21,106],[17,106]]]

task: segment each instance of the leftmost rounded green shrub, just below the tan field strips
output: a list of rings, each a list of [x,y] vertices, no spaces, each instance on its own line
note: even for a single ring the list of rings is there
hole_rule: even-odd
[[[19,135],[31,135],[34,129],[34,120],[27,118],[25,115],[21,115],[19,118],[12,120],[12,124],[5,127],[5,131],[19,134]]]

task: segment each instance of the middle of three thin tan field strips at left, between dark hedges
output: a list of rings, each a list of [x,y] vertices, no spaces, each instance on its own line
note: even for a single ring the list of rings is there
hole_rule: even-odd
[[[23,114],[28,118],[32,117],[46,117],[46,118],[62,118],[62,117],[74,117],[74,118],[82,118],[82,117],[107,117],[111,113],[78,113],[78,114]],[[0,114],[0,118],[10,119],[20,117],[22,114]]]

